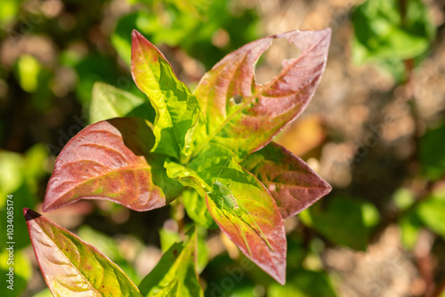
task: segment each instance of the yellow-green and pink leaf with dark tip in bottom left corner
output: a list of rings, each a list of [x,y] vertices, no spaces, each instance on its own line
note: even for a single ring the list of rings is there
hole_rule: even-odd
[[[44,281],[54,296],[142,296],[115,263],[40,214],[23,209]]]

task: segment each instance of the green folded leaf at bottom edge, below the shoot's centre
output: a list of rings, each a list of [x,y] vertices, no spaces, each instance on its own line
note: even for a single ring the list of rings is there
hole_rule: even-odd
[[[158,262],[158,265],[142,279],[139,289],[143,296],[157,296],[172,282],[178,282],[178,296],[204,296],[199,285],[196,269],[196,231],[190,232],[186,243],[174,244]]]

